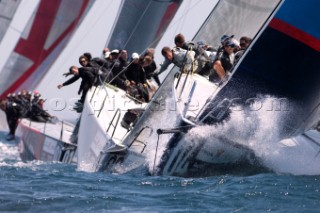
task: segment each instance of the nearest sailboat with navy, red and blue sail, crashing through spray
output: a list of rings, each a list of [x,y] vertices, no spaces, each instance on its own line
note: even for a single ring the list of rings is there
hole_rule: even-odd
[[[123,140],[125,149],[94,150],[101,154],[96,171],[147,165],[156,175],[206,176],[246,164],[319,174],[320,146],[311,130],[319,119],[317,5],[219,1],[195,40],[254,38],[229,81],[215,85],[191,73],[176,79],[178,69],[171,70]],[[304,170],[306,164],[313,169]]]

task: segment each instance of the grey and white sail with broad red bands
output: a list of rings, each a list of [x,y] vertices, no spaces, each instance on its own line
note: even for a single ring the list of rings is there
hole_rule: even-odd
[[[0,72],[0,95],[34,89],[59,56],[94,0],[39,2]]]

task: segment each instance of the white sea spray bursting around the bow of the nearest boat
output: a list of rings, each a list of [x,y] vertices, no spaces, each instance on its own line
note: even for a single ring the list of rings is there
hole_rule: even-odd
[[[182,174],[187,172],[194,160],[210,164],[246,162],[256,165],[258,159],[260,164],[260,159],[263,162],[265,157],[277,152],[273,144],[280,140],[280,127],[287,116],[286,111],[277,106],[278,100],[268,96],[251,100],[245,107],[232,105],[229,118],[223,122],[199,124],[188,133],[180,134],[181,137],[176,135],[176,140],[180,142],[176,142],[171,151],[164,152],[164,155],[169,153],[171,157],[168,154],[162,157],[166,165],[160,162],[162,165],[159,166],[165,172],[176,170]],[[161,142],[162,148],[167,147],[168,142]]]

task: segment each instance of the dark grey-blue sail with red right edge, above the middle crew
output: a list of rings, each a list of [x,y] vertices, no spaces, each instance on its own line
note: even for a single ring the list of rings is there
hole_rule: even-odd
[[[123,1],[106,47],[126,49],[129,53],[141,53],[148,47],[154,48],[181,3],[182,0]]]

